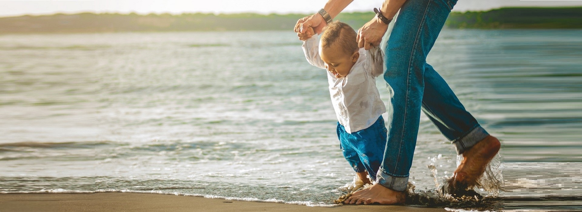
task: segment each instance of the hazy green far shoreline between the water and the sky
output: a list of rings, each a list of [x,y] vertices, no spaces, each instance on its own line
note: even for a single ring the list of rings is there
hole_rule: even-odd
[[[306,14],[27,15],[0,18],[0,33],[292,30],[296,21],[304,16]],[[342,13],[336,17],[336,20],[345,21],[357,29],[372,17],[374,17],[372,12]],[[582,8],[502,8],[487,12],[453,12],[445,26],[449,28],[582,28]]]

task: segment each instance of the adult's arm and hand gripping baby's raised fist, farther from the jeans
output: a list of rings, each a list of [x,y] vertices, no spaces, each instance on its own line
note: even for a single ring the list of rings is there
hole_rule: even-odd
[[[329,0],[325,3],[324,9],[333,19],[335,16],[338,16],[347,5],[352,3],[352,1],[353,0]],[[327,26],[327,23],[325,23],[324,17],[319,13],[315,13],[314,15],[299,19],[293,30],[299,37],[310,38],[312,34],[307,31],[308,27],[312,27],[315,33],[320,34],[325,26]]]

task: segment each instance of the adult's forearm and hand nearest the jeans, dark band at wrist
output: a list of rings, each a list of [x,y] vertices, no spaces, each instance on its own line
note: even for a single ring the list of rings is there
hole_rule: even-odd
[[[385,0],[380,7],[380,11],[386,19],[393,19],[394,15],[396,15],[398,10],[400,10],[402,5],[404,5],[404,2],[406,2],[406,0]],[[364,26],[358,30],[358,46],[368,50],[372,45],[380,45],[386,30],[388,30],[388,24],[385,24],[382,20],[378,19],[377,16],[374,16],[372,20],[368,21],[368,23],[364,24]]]

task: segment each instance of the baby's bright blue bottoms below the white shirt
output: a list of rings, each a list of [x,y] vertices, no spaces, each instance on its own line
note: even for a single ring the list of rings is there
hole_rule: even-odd
[[[338,122],[338,139],[343,156],[354,171],[361,173],[368,171],[372,181],[376,180],[376,173],[384,160],[386,136],[388,130],[384,125],[384,118],[380,116],[370,127],[349,134]]]

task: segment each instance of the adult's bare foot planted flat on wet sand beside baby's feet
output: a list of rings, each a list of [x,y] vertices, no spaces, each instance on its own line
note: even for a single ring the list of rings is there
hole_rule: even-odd
[[[404,192],[393,191],[380,184],[354,192],[343,201],[344,204],[403,204],[406,200]]]

